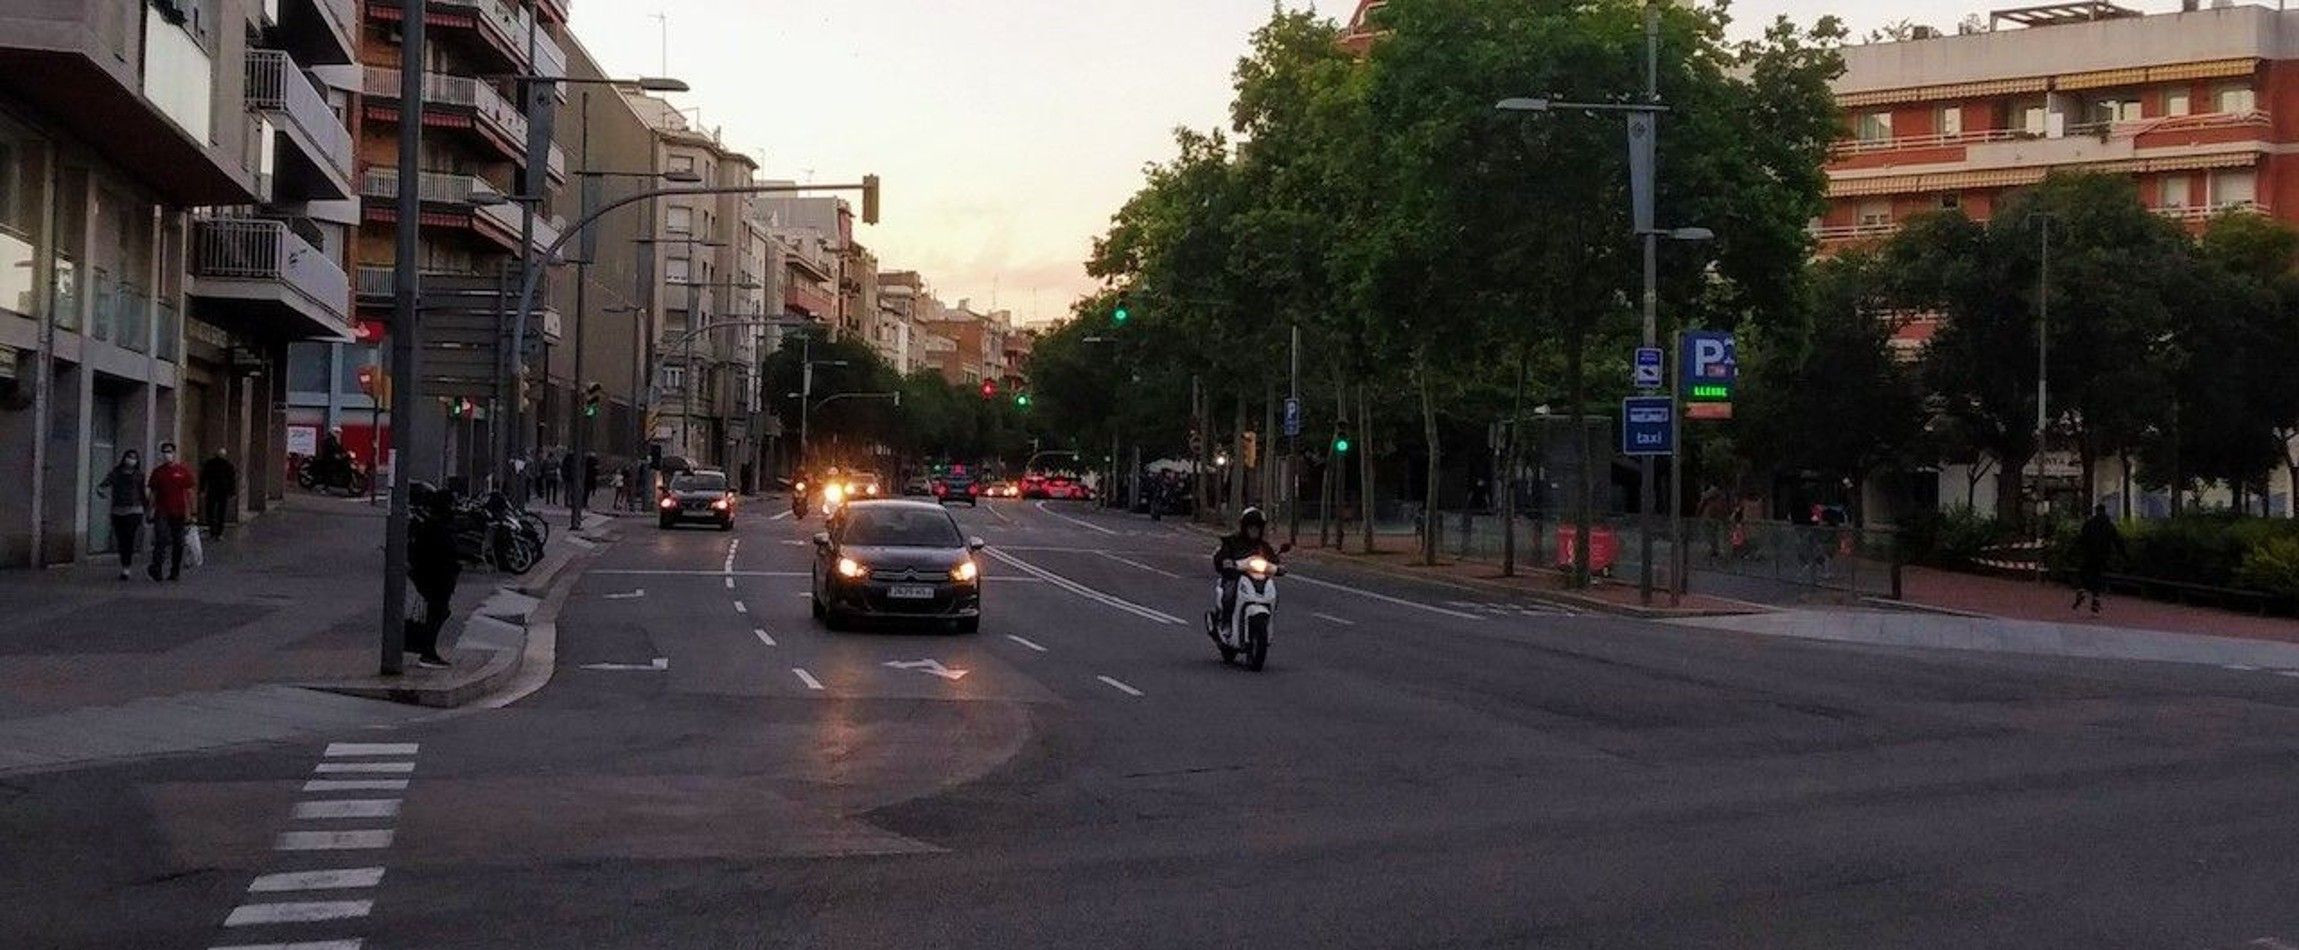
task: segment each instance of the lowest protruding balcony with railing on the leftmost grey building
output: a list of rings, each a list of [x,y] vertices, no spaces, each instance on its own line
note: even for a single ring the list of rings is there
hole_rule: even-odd
[[[191,313],[276,340],[349,340],[343,267],[283,221],[202,219],[191,225]]]

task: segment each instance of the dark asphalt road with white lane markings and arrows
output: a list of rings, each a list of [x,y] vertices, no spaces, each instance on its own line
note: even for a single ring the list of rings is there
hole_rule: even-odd
[[[1025,501],[979,633],[832,635],[772,511],[625,522],[508,708],[7,780],[0,945],[2299,945],[2299,679],[1317,564],[1253,674],[1207,538]]]

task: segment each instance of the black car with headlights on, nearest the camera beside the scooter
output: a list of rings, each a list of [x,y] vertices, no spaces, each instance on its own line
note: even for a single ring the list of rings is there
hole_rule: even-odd
[[[814,536],[814,616],[832,630],[858,619],[982,626],[982,538],[940,504],[851,501]]]

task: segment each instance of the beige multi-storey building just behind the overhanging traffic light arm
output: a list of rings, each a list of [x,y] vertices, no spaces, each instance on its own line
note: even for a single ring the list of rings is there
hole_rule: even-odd
[[[655,97],[630,97],[655,131],[658,168],[717,186],[754,184],[759,163]],[[761,444],[759,359],[768,313],[768,230],[756,196],[655,202],[660,373],[655,442],[701,465],[740,472]]]

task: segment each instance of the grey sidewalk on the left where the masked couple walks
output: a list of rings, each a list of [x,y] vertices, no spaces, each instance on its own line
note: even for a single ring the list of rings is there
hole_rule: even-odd
[[[467,570],[451,656],[501,584],[540,584],[575,543],[526,577]],[[308,729],[400,722],[428,711],[306,690],[372,676],[382,610],[384,513],[366,501],[292,495],[225,541],[182,582],[152,582],[138,552],[117,561],[0,570],[0,771],[179,752]],[[478,637],[490,639],[490,637]],[[501,637],[494,637],[501,639]],[[471,649],[407,685],[478,681]]]

